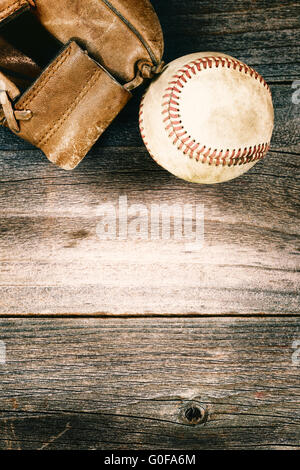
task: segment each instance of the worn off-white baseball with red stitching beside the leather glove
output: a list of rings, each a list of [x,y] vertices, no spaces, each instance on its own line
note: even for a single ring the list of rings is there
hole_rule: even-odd
[[[251,67],[201,52],[171,62],[147,90],[140,129],[153,159],[193,183],[240,176],[270,147],[270,88]]]

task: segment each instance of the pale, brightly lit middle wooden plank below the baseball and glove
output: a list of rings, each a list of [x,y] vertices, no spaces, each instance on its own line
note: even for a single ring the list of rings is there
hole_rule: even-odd
[[[297,156],[271,153],[243,178],[199,187],[145,150],[114,154],[71,174],[30,153],[25,171],[3,159],[14,179],[1,189],[1,313],[299,311]],[[140,241],[99,239],[98,207],[120,195],[149,214],[155,203],[204,204],[204,249],[151,240],[149,221]]]

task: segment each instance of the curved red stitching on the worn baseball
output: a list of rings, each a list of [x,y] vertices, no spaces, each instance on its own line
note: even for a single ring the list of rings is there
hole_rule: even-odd
[[[251,163],[257,160],[261,160],[265,157],[266,153],[270,148],[269,143],[259,144],[258,146],[252,147],[245,147],[244,149],[233,149],[230,151],[227,150],[220,150],[209,148],[207,149],[206,146],[202,146],[200,143],[197,143],[194,139],[191,140],[191,136],[187,136],[187,131],[184,130],[184,126],[181,125],[181,116],[180,116],[180,103],[179,103],[179,94],[182,93],[182,89],[184,88],[185,84],[188,80],[193,78],[193,75],[196,75],[197,71],[201,72],[203,69],[206,70],[207,68],[213,68],[215,66],[218,68],[227,67],[233,68],[233,70],[238,70],[240,72],[244,72],[245,74],[249,74],[250,77],[253,77],[255,80],[259,80],[259,82],[267,89],[269,93],[270,87],[266,83],[259,73],[257,73],[253,68],[243,64],[242,62],[234,59],[229,59],[227,57],[203,57],[197,60],[186,64],[183,68],[179,69],[177,73],[172,77],[172,80],[169,82],[168,88],[165,90],[165,94],[163,96],[163,111],[162,114],[166,115],[163,122],[166,124],[166,131],[170,138],[173,139],[173,144],[178,146],[178,150],[183,150],[185,155],[189,155],[190,158],[195,158],[196,161],[200,163],[208,162],[209,165],[215,166],[236,166],[236,165],[243,165],[246,163]],[[140,125],[142,126],[143,123],[143,104],[141,105],[141,119]],[[141,127],[141,134],[143,139],[145,140],[145,136],[143,135],[143,128]],[[148,143],[145,143],[147,150]],[[199,147],[201,147],[199,149]],[[149,151],[150,155],[151,152]],[[224,155],[223,155],[224,154]],[[152,156],[152,155],[151,155]],[[152,156],[153,157],[153,156]]]

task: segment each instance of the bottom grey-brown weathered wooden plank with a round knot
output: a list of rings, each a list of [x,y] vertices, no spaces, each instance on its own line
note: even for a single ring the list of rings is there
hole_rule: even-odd
[[[2,319],[0,449],[299,448],[299,327]]]

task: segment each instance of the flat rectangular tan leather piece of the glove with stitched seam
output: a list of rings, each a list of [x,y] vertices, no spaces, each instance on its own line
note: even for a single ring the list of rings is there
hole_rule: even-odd
[[[71,42],[15,104],[30,110],[18,135],[61,168],[75,168],[131,94]],[[49,99],[50,98],[50,99]]]

